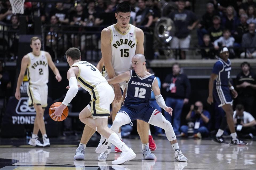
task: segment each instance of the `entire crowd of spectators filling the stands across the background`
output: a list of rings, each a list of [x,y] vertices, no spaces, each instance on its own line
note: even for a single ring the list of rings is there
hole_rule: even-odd
[[[41,17],[42,24],[52,26],[47,27],[49,32],[46,37],[47,46],[50,48],[54,48],[57,39],[59,41],[64,39],[65,43],[62,42],[58,46],[70,43],[71,46],[78,46],[83,50],[87,38],[92,39],[92,44],[95,46],[99,40],[99,35],[65,37],[58,33],[63,30],[61,26],[81,26],[71,30],[83,31],[83,27],[111,25],[115,22],[115,7],[123,1],[130,3],[132,7],[130,23],[133,25],[153,29],[157,19],[161,18],[161,7],[164,3],[157,0],[26,2],[24,15],[29,27],[33,27],[35,16]],[[256,58],[256,3],[253,0],[209,0],[206,4],[207,10],[202,17],[198,17],[191,10],[194,1],[169,0],[167,2],[172,1],[177,5],[177,10],[170,11],[168,17],[174,21],[176,29],[169,46],[172,49],[181,49],[179,52],[180,59],[186,58],[185,52],[186,49],[190,48],[190,34],[193,29],[197,29],[198,45],[196,47],[201,48],[202,58],[214,59],[217,50],[224,45],[230,48],[230,58]],[[19,29],[19,15],[12,14],[9,1],[0,2],[0,21],[11,24],[12,26],[9,28],[11,30]],[[13,50],[11,50],[13,53],[17,53],[15,45],[14,42]]]

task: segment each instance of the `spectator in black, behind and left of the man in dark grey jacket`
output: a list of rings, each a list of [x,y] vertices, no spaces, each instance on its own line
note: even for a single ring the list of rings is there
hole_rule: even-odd
[[[237,26],[233,33],[233,37],[235,38],[234,46],[241,47],[242,36],[244,33],[248,32],[248,24],[246,23],[248,16],[246,14],[242,14],[240,16],[240,24]]]

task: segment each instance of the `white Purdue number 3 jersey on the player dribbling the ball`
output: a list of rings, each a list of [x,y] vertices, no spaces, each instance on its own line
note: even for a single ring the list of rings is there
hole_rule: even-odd
[[[99,70],[91,63],[87,61],[78,61],[74,63],[71,67],[74,66],[78,66],[79,68],[77,82],[86,91],[91,93],[91,91],[97,84],[101,82],[107,83],[107,80],[102,76]]]

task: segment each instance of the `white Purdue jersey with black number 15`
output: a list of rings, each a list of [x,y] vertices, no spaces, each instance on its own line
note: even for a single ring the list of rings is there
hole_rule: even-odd
[[[135,26],[129,24],[129,30],[121,33],[115,24],[109,26],[111,31],[111,62],[117,75],[132,69],[131,59],[135,55],[137,39]]]

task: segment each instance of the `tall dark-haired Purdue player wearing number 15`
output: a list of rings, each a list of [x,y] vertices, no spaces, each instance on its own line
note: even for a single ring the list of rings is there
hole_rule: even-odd
[[[119,3],[116,7],[115,13],[117,23],[103,29],[101,32],[101,52],[106,69],[103,70],[103,76],[106,79],[110,79],[126,71],[130,71],[132,69],[132,57],[135,54],[144,53],[144,33],[141,29],[129,24],[130,12],[131,7],[129,4],[125,2]],[[100,62],[102,63],[102,61]],[[121,89],[123,91],[125,90],[126,82],[113,84],[113,88],[115,92],[115,99],[112,103],[112,120],[114,120],[117,112],[121,108]],[[137,130],[141,138],[142,148],[145,148],[149,145],[149,125],[144,121],[137,120]],[[74,156],[75,160],[85,160],[85,146],[94,132],[95,131],[89,126],[85,126],[81,143],[79,144]],[[119,134],[119,138],[121,138],[121,134]],[[101,142],[107,141],[103,140]],[[82,150],[79,148],[82,148]],[[154,146],[153,149],[155,150],[155,148],[156,147]],[[115,148],[115,151],[119,152],[120,150]],[[98,151],[96,152],[98,153]],[[152,156],[154,156],[154,154],[151,154],[151,158]]]

